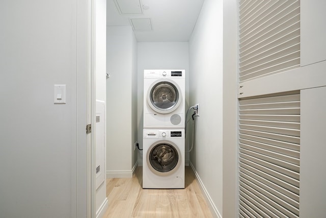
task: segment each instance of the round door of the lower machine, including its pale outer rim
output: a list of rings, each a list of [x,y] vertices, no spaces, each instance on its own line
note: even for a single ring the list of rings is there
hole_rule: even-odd
[[[178,147],[171,141],[157,141],[147,151],[147,165],[157,175],[174,173],[181,162]]]

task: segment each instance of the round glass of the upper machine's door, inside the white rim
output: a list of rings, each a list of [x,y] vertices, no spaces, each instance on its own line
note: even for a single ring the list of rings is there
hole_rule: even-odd
[[[174,84],[168,81],[156,83],[151,89],[150,101],[158,110],[170,110],[175,107],[179,101],[178,89]]]

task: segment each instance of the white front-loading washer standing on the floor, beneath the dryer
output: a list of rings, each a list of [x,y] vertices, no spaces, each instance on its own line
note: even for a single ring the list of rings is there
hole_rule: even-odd
[[[184,188],[184,130],[143,134],[143,188]]]

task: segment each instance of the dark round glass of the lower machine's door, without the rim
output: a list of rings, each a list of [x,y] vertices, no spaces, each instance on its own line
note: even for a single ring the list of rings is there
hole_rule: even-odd
[[[178,164],[178,152],[168,143],[159,143],[149,153],[149,162],[155,171],[166,173],[172,171]]]

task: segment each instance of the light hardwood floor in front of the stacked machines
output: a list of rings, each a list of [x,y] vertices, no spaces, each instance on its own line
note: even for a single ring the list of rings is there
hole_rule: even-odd
[[[142,166],[132,178],[106,180],[108,209],[103,218],[213,217],[191,167],[185,167],[184,189],[143,189]]]

